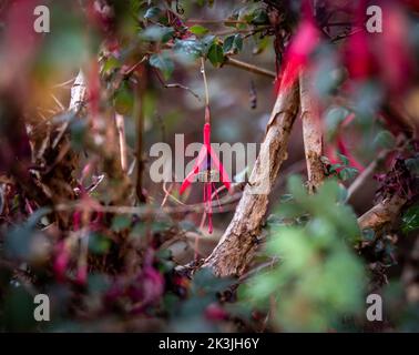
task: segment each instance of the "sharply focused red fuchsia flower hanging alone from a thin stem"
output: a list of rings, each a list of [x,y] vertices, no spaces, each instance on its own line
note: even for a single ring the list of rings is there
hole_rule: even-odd
[[[204,204],[205,210],[208,216],[208,233],[213,233],[213,187],[214,182],[211,179],[212,173],[212,165],[214,164],[216,171],[219,173],[221,181],[224,186],[229,191],[231,187],[231,180],[228,174],[226,173],[223,164],[219,162],[218,156],[214,152],[213,148],[211,146],[211,124],[209,124],[209,108],[205,108],[205,124],[204,124],[204,144],[198,153],[198,156],[195,161],[195,164],[192,171],[187,174],[185,180],[181,185],[180,193],[184,193],[185,190],[192,184],[195,176],[198,175],[200,172],[206,173],[206,179],[204,183]],[[217,197],[216,190],[215,196]]]

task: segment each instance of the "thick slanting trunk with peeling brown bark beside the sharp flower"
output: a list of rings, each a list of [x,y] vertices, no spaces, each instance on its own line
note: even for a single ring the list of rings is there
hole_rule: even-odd
[[[242,275],[257,250],[268,196],[282,163],[298,113],[298,84],[280,93],[267,126],[259,155],[245,186],[235,215],[218,245],[205,260],[218,276]]]

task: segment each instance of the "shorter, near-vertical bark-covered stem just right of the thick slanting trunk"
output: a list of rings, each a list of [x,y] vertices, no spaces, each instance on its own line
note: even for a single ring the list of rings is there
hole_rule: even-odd
[[[325,180],[325,171],[321,163],[323,133],[319,111],[313,95],[313,85],[309,78],[303,73],[299,77],[299,94],[308,187],[310,192],[314,192]]]

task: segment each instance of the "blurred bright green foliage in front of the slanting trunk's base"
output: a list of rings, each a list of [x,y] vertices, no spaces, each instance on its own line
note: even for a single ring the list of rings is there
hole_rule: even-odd
[[[344,331],[343,317],[360,315],[365,306],[365,265],[352,251],[357,220],[336,181],[308,195],[293,176],[288,190],[268,224],[265,252],[275,262],[241,286],[241,301],[264,305],[278,329]]]

